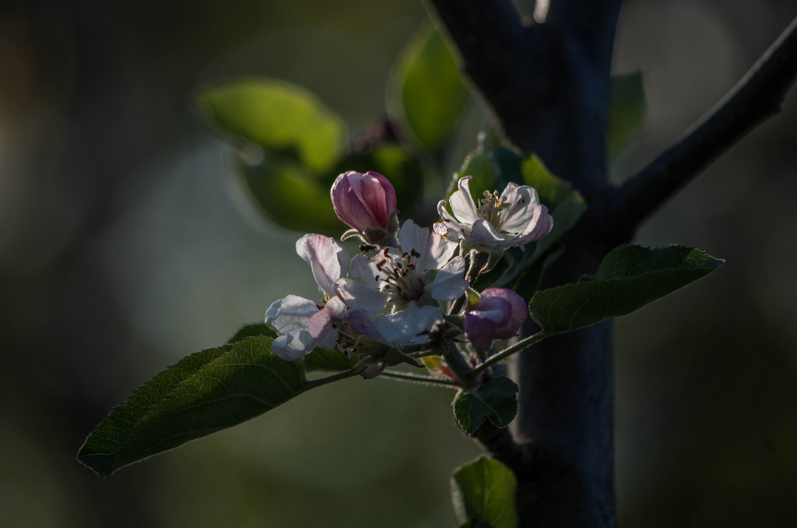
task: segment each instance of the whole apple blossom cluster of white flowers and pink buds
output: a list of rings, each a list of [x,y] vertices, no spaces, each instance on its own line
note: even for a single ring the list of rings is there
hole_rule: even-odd
[[[322,297],[316,304],[289,295],[269,307],[265,323],[278,336],[273,353],[295,361],[316,348],[338,349],[357,358],[355,371],[371,378],[398,363],[422,366],[406,351],[440,342],[446,346],[450,338],[444,334],[464,333],[466,341],[458,340],[459,345],[482,354],[494,340],[515,336],[528,317],[524,300],[502,288],[478,294],[466,278],[466,258],[473,266],[469,251],[502,252],[542,238],[552,219],[532,187],[514,183],[500,197],[485,192],[476,207],[469,179],[460,179],[451,195],[456,218],[443,201],[438,205],[442,223],[434,229],[411,219],[399,229],[395,191],[387,178],[353,171],[338,176],[332,205],[351,227],[341,241],[357,236],[367,244],[361,249],[374,254],[352,258],[334,238],[300,238],[296,253],[311,266]]]

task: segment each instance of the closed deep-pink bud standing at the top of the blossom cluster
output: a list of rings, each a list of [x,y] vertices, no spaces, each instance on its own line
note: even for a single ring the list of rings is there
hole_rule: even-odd
[[[332,183],[330,194],[338,218],[360,234],[367,230],[387,231],[390,227],[396,193],[383,175],[348,171]]]

